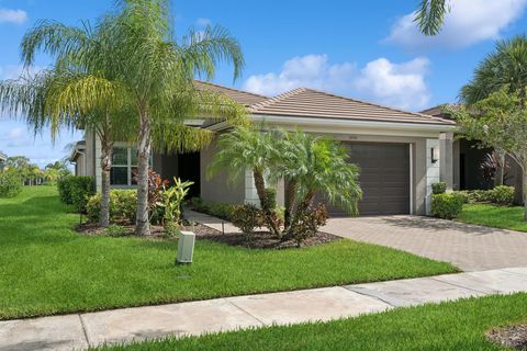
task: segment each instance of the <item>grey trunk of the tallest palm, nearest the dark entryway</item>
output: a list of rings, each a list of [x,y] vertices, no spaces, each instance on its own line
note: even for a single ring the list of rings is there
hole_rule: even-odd
[[[136,235],[149,235],[148,223],[148,168],[150,159],[150,121],[146,111],[141,113],[141,126],[137,146],[137,212],[135,220]]]

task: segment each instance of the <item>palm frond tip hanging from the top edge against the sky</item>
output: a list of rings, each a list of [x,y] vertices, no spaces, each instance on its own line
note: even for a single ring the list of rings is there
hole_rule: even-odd
[[[450,11],[447,0],[421,0],[415,13],[415,22],[426,35],[436,35],[441,30],[445,15]]]

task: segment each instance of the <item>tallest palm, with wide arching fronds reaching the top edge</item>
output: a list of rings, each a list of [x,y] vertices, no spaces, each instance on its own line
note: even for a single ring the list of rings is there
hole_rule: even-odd
[[[130,125],[137,126],[138,235],[149,233],[147,177],[153,143],[164,149],[195,149],[210,141],[211,135],[187,127],[186,120],[245,116],[245,109],[231,99],[200,91],[193,84],[194,75],[212,78],[220,61],[233,63],[234,76],[238,77],[244,65],[238,43],[221,27],[190,31],[177,43],[169,10],[168,0],[121,0],[116,11],[96,25],[96,34],[89,24],[72,27],[42,22],[22,44],[26,65],[34,61],[37,52],[43,52],[56,58],[56,66],[74,66],[88,75],[72,84],[91,87],[89,94],[79,89],[75,94],[63,95],[63,100],[69,101],[74,95],[83,97],[70,112],[80,111],[88,116],[94,110],[98,118],[113,118],[117,110],[120,115],[127,116]],[[99,41],[91,41],[92,37]],[[104,92],[102,97],[97,95],[100,91]],[[115,101],[123,105],[114,110]],[[173,140],[175,136],[187,139]]]

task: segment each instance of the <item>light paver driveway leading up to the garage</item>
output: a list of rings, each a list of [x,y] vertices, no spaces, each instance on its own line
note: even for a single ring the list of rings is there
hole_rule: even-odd
[[[448,261],[463,271],[527,267],[527,233],[419,216],[333,218],[322,230]]]

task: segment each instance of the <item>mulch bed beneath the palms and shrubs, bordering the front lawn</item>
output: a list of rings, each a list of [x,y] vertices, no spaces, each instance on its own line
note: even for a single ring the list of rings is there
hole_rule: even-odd
[[[132,236],[134,234],[134,226],[123,226],[130,231]],[[245,247],[251,249],[285,249],[296,247],[296,242],[293,240],[280,241],[274,238],[269,231],[257,231],[253,235],[253,239],[247,242],[247,238],[239,233],[225,233],[215,230],[213,228],[206,227],[201,224],[197,224],[193,227],[182,227],[182,230],[193,230],[197,239],[205,239],[216,242],[222,242],[228,246]],[[76,227],[76,230],[82,235],[87,236],[99,236],[104,235],[105,229],[100,227],[97,224],[81,224]],[[165,238],[165,229],[161,226],[152,226],[150,227],[152,236],[150,238]],[[302,242],[302,247],[324,245],[327,242],[340,240],[339,237],[336,237],[326,233],[318,233],[317,236],[307,238]]]

